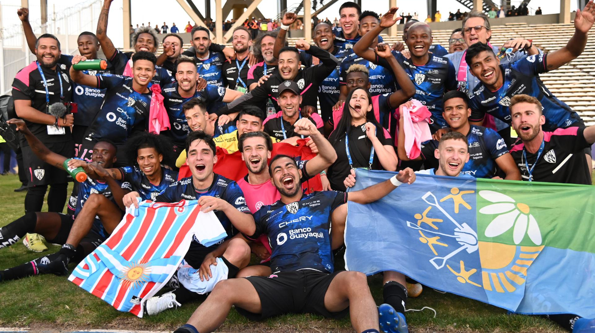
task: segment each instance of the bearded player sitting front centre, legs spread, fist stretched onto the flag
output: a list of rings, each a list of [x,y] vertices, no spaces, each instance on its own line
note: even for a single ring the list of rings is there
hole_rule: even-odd
[[[242,234],[249,240],[268,235],[273,247],[273,275],[221,281],[188,323],[175,332],[215,331],[232,306],[250,319],[292,312],[337,318],[346,315],[349,307],[356,332],[378,332],[378,312],[382,314],[383,328],[390,322],[390,329],[401,326],[404,331],[404,316],[397,315],[388,304],[376,308],[364,274],[334,271],[329,222],[336,222],[337,216],[345,217],[347,200],[374,202],[400,184],[412,183],[414,172],[403,170],[390,180],[361,191],[317,191],[308,195],[300,187],[302,171],[290,156],[275,156],[269,172],[281,199],[262,206],[255,214],[255,231]]]

